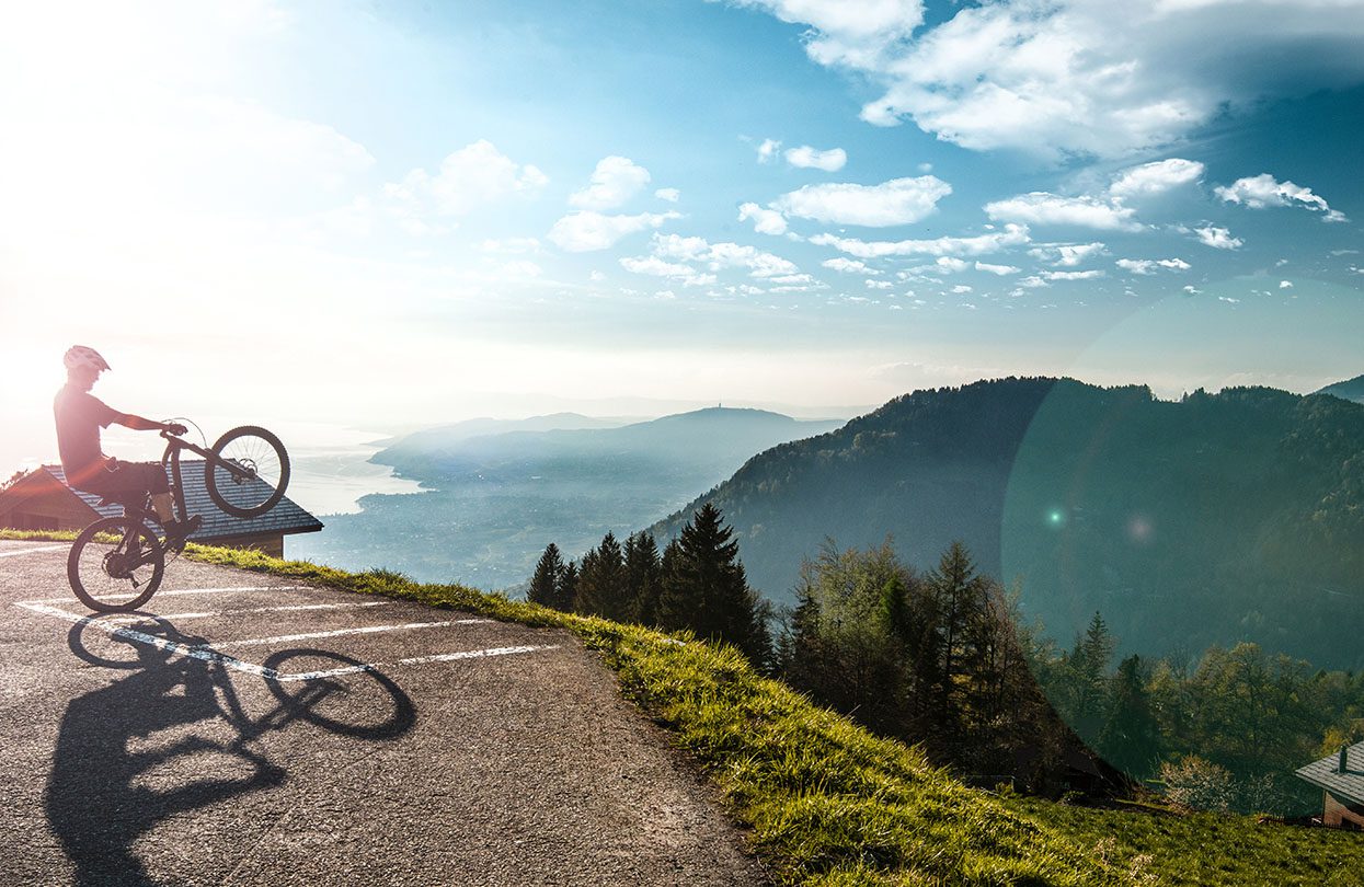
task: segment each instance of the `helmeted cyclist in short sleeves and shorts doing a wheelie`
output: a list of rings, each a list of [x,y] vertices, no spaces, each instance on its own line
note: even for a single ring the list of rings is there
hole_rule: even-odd
[[[150,495],[151,508],[166,531],[166,545],[183,548],[186,538],[199,529],[203,519],[192,515],[177,520],[165,469],[158,462],[120,462],[104,455],[100,429],[117,424],[134,431],[183,435],[186,426],[120,413],[90,394],[100,373],[109,369],[108,361],[93,347],[74,345],[63,362],[67,367],[67,384],[57,391],[52,411],[57,422],[57,450],[67,484],[105,499],[142,499]]]

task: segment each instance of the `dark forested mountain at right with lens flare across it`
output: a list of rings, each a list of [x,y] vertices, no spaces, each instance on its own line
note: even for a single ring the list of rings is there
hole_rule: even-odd
[[[1102,610],[1127,651],[1247,639],[1364,666],[1364,406],[1337,398],[1168,402],[1056,379],[918,391],[756,456],[655,533],[702,501],[779,601],[825,537],[892,534],[923,567],[963,540],[1061,643]]]

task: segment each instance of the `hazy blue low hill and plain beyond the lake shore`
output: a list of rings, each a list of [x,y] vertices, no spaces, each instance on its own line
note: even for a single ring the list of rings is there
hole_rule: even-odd
[[[840,421],[749,409],[705,409],[618,428],[480,431],[490,420],[408,435],[372,456],[430,492],[367,496],[293,544],[338,567],[383,565],[426,580],[505,589],[529,578],[544,546],[577,557],[675,511],[753,454]]]

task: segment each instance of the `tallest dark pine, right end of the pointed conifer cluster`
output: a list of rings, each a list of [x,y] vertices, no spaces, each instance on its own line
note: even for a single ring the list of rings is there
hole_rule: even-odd
[[[734,530],[723,525],[711,503],[692,515],[664,552],[659,624],[732,643],[754,664],[765,665],[772,654],[768,608],[749,587],[732,537]]]

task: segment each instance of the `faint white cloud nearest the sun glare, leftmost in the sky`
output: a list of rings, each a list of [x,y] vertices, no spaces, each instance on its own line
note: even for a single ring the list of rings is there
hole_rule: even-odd
[[[537,168],[517,164],[491,142],[480,139],[447,155],[435,174],[413,169],[383,191],[413,213],[462,215],[507,196],[535,196],[548,181]]]

